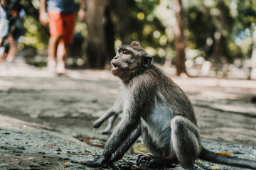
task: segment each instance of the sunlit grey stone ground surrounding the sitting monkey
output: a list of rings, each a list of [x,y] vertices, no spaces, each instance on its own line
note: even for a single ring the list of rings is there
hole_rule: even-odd
[[[256,159],[256,81],[172,79],[191,98],[206,148]],[[90,145],[104,145],[106,124],[94,130],[92,122],[118,94],[109,70],[70,69],[57,77],[23,57],[0,64],[0,169],[149,169],[136,166],[132,152],[102,168],[80,164],[102,152]],[[198,160],[195,169],[235,168]]]

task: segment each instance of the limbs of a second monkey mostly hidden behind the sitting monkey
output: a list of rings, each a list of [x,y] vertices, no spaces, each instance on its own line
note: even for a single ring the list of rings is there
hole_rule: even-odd
[[[93,128],[100,128],[100,125],[108,120],[107,127],[102,131],[103,135],[110,135],[112,133],[112,128],[114,121],[117,119],[118,115],[122,113],[122,97],[119,96],[111,108],[109,108],[100,118],[95,120],[93,123]]]

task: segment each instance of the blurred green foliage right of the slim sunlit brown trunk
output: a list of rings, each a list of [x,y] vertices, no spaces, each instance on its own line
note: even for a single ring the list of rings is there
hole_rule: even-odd
[[[252,50],[250,39],[254,29],[252,26],[255,23],[255,1],[198,0],[184,6],[186,6],[184,23],[188,47],[202,50],[206,54],[204,57],[210,58],[214,52],[215,33],[220,31],[224,38],[223,57],[229,62],[233,62],[235,58],[250,57]]]

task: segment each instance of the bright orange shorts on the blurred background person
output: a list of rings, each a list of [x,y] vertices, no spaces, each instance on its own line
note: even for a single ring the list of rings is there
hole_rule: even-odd
[[[60,37],[64,42],[73,42],[75,30],[75,13],[48,12],[50,36]]]

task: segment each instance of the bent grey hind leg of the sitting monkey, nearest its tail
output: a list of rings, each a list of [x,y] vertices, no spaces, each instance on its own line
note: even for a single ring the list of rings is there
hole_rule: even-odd
[[[201,153],[201,142],[196,125],[176,115],[171,120],[171,142],[181,167],[193,169],[195,160]]]

